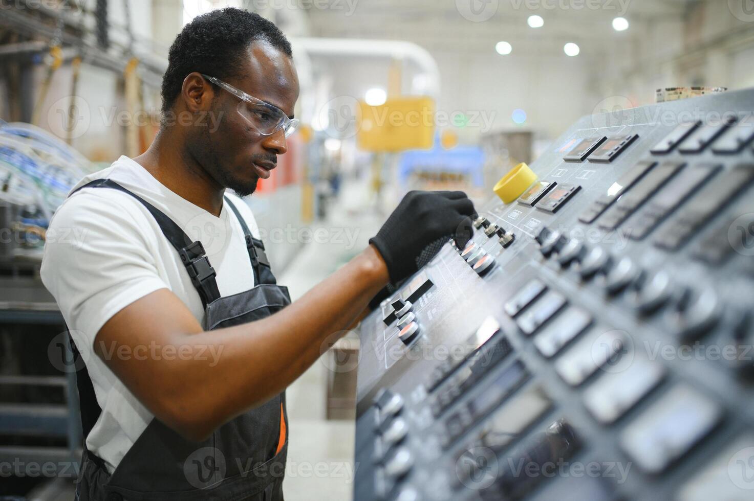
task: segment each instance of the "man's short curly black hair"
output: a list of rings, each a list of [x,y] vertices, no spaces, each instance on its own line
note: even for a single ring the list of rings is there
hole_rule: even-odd
[[[293,55],[283,32],[259,14],[224,8],[195,17],[170,46],[162,78],[162,112],[170,111],[186,75],[200,72],[225,80],[242,77],[240,58],[253,41],[264,40]]]

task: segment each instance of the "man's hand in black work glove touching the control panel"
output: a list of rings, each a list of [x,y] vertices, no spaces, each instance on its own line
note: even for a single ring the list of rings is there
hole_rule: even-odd
[[[474,204],[463,191],[409,191],[369,243],[388,265],[391,283],[418,270],[416,258],[439,239],[464,248],[471,237]]]

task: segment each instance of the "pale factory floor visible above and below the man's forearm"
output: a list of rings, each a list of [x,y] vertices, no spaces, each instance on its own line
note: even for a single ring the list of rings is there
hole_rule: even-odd
[[[326,221],[312,225],[312,228],[328,231],[332,241],[305,246],[278,283],[288,286],[291,298],[296,301],[366,248],[383,219],[369,203],[366,185],[344,186]],[[351,244],[346,238],[349,231]],[[338,237],[339,233],[342,237]],[[287,501],[347,501],[352,498],[354,422],[325,419],[328,370],[322,360],[318,360],[286,393],[290,422],[284,481]]]

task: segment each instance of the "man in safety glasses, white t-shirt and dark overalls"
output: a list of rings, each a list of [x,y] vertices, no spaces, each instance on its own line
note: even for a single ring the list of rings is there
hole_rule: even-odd
[[[285,388],[474,207],[461,192],[410,193],[360,255],[290,304],[250,209],[225,193],[253,193],[286,152],[290,44],[228,8],[185,26],[168,61],[155,142],[75,187],[50,229],[82,238],[51,240],[42,262],[86,362],[78,499],[282,499]]]

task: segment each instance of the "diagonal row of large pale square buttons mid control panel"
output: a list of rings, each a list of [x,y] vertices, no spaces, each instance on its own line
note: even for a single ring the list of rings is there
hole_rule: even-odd
[[[505,305],[507,313],[519,322],[538,311],[550,312],[550,294],[541,280],[532,280]],[[592,324],[590,313],[566,306],[535,338],[535,346],[548,358]],[[630,357],[627,355],[630,353]],[[627,357],[624,362],[624,358]],[[626,365],[627,364],[627,365]],[[604,368],[602,375],[584,391],[584,406],[600,423],[615,423],[662,380],[663,366],[630,352],[622,331],[593,328],[555,362],[559,376],[571,386],[579,386]],[[645,471],[659,473],[682,457],[708,434],[722,416],[710,399],[685,386],[675,386],[663,399],[654,402],[621,432],[621,448]],[[669,445],[670,444],[670,445]]]

